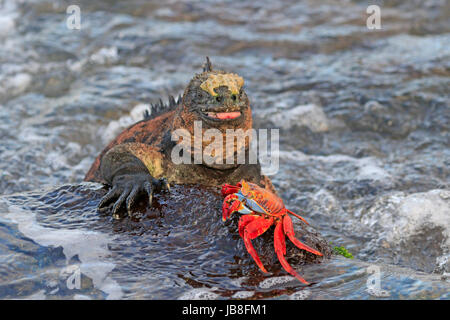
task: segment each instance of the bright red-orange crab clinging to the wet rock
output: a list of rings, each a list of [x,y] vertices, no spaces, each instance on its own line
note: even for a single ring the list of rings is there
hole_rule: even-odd
[[[295,238],[292,219],[288,213],[307,223],[305,219],[286,209],[283,200],[272,192],[244,180],[237,185],[224,184],[222,186],[222,195],[225,197],[222,206],[223,221],[235,212],[244,214],[239,219],[239,235],[244,240],[248,253],[255,260],[258,267],[267,273],[256,250],[253,248],[251,240],[259,237],[272,225],[275,225],[274,247],[278,260],[287,272],[304,284],[309,284],[289,265],[284,257],[286,254],[285,235],[298,248],[322,256],[322,253]]]

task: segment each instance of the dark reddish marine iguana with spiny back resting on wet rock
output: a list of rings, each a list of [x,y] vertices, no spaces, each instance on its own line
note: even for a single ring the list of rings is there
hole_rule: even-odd
[[[252,128],[252,113],[243,84],[237,74],[213,70],[207,57],[203,72],[191,79],[182,96],[177,100],[169,97],[167,105],[160,100],[143,120],[120,133],[96,158],[84,179],[111,186],[99,203],[99,211],[112,206],[112,213],[117,216],[125,204],[131,214],[133,203],[141,194],[148,195],[151,206],[153,192],[169,190],[170,183],[220,186],[245,179],[275,191],[269,178],[261,173],[259,162],[175,164],[171,159],[173,148],[184,140],[172,141],[172,133],[185,129],[193,138],[195,121],[201,121],[203,132],[214,128],[222,135],[227,129]],[[203,141],[203,148],[208,144]],[[249,140],[244,148],[247,152]],[[199,151],[192,149],[190,156],[194,158],[196,152]],[[236,156],[236,144],[232,152]],[[224,159],[226,156],[225,153]]]

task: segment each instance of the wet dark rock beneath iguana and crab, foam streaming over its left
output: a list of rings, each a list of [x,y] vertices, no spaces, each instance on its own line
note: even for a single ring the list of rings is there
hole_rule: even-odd
[[[218,188],[175,185],[170,193],[155,194],[151,208],[143,197],[132,216],[121,219],[97,212],[106,191],[99,184],[83,183],[0,198],[3,221],[17,225],[13,231],[13,227],[0,223],[0,237],[6,239],[7,247],[33,243],[20,254],[0,247],[0,257],[12,259],[3,268],[22,266],[14,273],[6,272],[9,278],[0,298],[43,290],[42,298],[174,299],[189,297],[192,288],[214,297],[232,296],[240,291],[253,292],[261,281],[274,276],[291,279],[285,281],[288,288],[304,287],[278,262],[273,227],[253,240],[271,274],[259,271],[239,237],[238,215],[222,222],[223,197]],[[330,257],[328,243],[318,231],[298,220],[294,220],[294,228],[297,238]],[[286,243],[287,259],[302,275],[300,266],[324,260],[297,249],[288,239]],[[40,267],[36,269],[36,265]],[[81,277],[80,288],[75,290],[74,282],[68,289],[66,280],[73,279],[75,271]],[[29,272],[34,275],[32,279],[27,276]],[[303,276],[311,283],[321,280],[320,275]],[[129,286],[134,288],[131,293]],[[261,294],[271,297],[285,293],[281,284],[271,290],[264,289]]]

